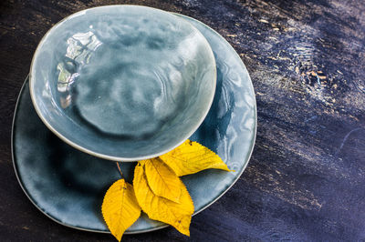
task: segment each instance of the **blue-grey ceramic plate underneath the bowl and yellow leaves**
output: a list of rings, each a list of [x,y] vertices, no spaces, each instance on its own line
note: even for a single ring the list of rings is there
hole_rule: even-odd
[[[255,143],[255,93],[247,70],[232,46],[203,23],[179,16],[205,36],[217,65],[212,108],[191,139],[211,148],[235,170],[211,169],[183,176],[196,214],[232,187],[248,163]],[[49,131],[32,106],[27,79],[18,97],[12,138],[19,183],[39,210],[67,227],[108,232],[100,207],[108,187],[120,178],[117,166],[68,146]],[[121,166],[130,181],[135,163]],[[162,227],[166,225],[142,215],[126,234]]]

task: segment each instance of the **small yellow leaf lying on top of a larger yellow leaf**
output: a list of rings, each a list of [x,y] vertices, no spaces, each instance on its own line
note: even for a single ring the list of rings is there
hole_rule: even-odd
[[[159,157],[143,160],[140,163],[144,166],[148,185],[152,192],[159,197],[165,197],[179,203],[182,194],[180,188],[182,182],[172,169],[164,164]]]

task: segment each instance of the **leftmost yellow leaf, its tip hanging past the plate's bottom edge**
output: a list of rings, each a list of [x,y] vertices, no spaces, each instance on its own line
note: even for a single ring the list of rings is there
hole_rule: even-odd
[[[124,179],[113,183],[105,194],[101,213],[111,234],[120,241],[124,231],[141,215],[133,187]]]

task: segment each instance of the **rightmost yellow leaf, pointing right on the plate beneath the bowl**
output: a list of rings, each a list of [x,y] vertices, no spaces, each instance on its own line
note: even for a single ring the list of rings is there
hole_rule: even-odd
[[[209,168],[231,171],[221,157],[209,148],[189,139],[160,158],[172,168],[177,176],[194,174]]]

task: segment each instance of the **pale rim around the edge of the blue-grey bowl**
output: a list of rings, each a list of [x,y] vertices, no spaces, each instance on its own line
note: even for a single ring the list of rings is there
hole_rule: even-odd
[[[37,106],[37,103],[36,103],[36,95],[35,95],[35,92],[34,92],[35,91],[34,90],[35,89],[34,85],[35,85],[36,80],[34,80],[33,72],[34,72],[34,69],[35,69],[34,66],[35,66],[35,62],[36,62],[36,57],[38,56],[38,54],[40,52],[41,46],[47,40],[47,36],[50,35],[51,32],[57,28],[57,26],[62,25],[63,23],[67,22],[69,19],[74,18],[74,17],[77,17],[78,15],[84,15],[84,14],[86,14],[86,11],[88,11],[88,10],[92,10],[92,9],[96,9],[96,8],[100,9],[100,8],[130,7],[130,6],[132,6],[132,7],[141,7],[141,8],[151,8],[153,10],[160,11],[160,12],[162,12],[164,14],[168,14],[168,15],[172,15],[173,17],[177,17],[172,12],[164,11],[164,10],[159,9],[159,8],[155,8],[155,7],[151,7],[151,6],[145,6],[145,5],[102,5],[102,6],[95,6],[95,7],[90,7],[90,8],[87,8],[87,9],[80,10],[80,11],[78,11],[78,12],[72,14],[72,15],[68,15],[65,18],[61,19],[60,21],[57,22],[56,25],[53,25],[51,28],[49,28],[47,30],[46,34],[43,35],[43,37],[39,41],[38,45],[36,46],[36,51],[35,51],[35,54],[32,57],[32,61],[31,61],[31,65],[30,65],[30,72],[29,72],[29,93],[30,93],[30,97],[31,97],[33,106],[36,109],[37,116],[39,116],[39,118],[47,126],[47,128],[49,130],[51,130],[52,133],[54,133],[56,136],[58,136],[62,141],[64,141],[65,143],[67,143],[69,146],[73,146],[74,148],[76,148],[76,149],[78,149],[78,150],[80,150],[82,152],[85,152],[85,153],[87,153],[87,154],[89,154],[91,156],[97,156],[99,158],[103,158],[103,159],[107,159],[107,160],[111,160],[111,161],[119,161],[119,162],[120,161],[121,162],[134,162],[134,161],[139,161],[139,160],[150,159],[150,158],[157,157],[157,156],[162,156],[163,154],[166,154],[169,151],[172,151],[172,149],[176,148],[177,146],[182,145],[183,142],[186,139],[188,139],[190,136],[192,136],[193,133],[199,128],[199,126],[202,125],[202,123],[203,123],[205,117],[208,115],[209,110],[211,109],[211,106],[212,106],[213,101],[214,101],[215,90],[216,90],[216,78],[217,78],[217,74],[216,74],[216,62],[215,62],[214,53],[213,53],[213,50],[212,50],[211,45],[206,40],[206,38],[203,36],[203,34],[195,26],[193,26],[193,24],[189,23],[188,21],[185,21],[185,20],[181,19],[181,21],[184,21],[185,24],[190,25],[193,29],[195,29],[197,31],[198,35],[201,35],[203,37],[202,38],[203,39],[203,42],[205,42],[205,44],[207,46],[209,46],[208,52],[210,53],[211,57],[214,60],[214,62],[213,62],[213,65],[214,65],[214,80],[213,80],[213,83],[212,83],[212,85],[213,85],[213,91],[211,92],[211,94],[209,96],[210,99],[209,99],[208,106],[204,110],[203,115],[201,116],[201,118],[199,119],[199,121],[196,123],[196,125],[193,126],[192,129],[191,129],[191,131],[188,132],[185,136],[182,136],[182,138],[180,138],[180,141],[179,142],[177,142],[175,145],[173,145],[173,146],[171,146],[169,148],[166,148],[166,149],[162,150],[161,152],[154,153],[154,154],[147,155],[147,156],[122,157],[122,156],[110,156],[110,155],[106,155],[106,154],[101,154],[99,152],[93,151],[93,150],[91,150],[89,148],[86,148],[84,146],[80,146],[76,142],[73,142],[70,139],[68,139],[68,137],[63,136],[60,132],[57,131],[57,129],[55,129],[53,126],[51,126],[48,123],[47,118],[42,115],[42,112],[40,111],[39,106]]]

